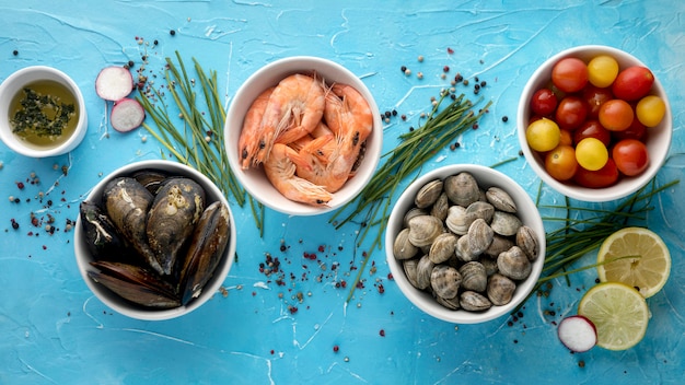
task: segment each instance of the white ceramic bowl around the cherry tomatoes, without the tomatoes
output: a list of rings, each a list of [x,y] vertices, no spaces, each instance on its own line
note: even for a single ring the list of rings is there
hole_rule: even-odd
[[[646,66],[632,55],[613,47],[591,45],[566,49],[545,60],[545,62],[543,62],[537,68],[537,70],[533,72],[531,79],[527,81],[527,83],[523,88],[523,92],[521,93],[516,116],[519,142],[521,143],[521,149],[523,150],[526,161],[529,162],[535,174],[537,174],[543,179],[543,182],[545,182],[545,184],[567,197],[594,202],[611,201],[626,197],[637,191],[638,189],[643,187],[649,180],[651,180],[665,162],[666,155],[669,153],[669,148],[671,147],[671,137],[673,131],[673,118],[671,115],[669,97],[663,86],[659,82],[659,79],[655,79],[654,84],[652,85],[651,94],[658,95],[664,101],[666,105],[666,113],[659,126],[648,128],[648,139],[646,141],[646,144],[650,155],[650,163],[645,172],[642,172],[640,175],[632,177],[619,176],[619,180],[609,187],[588,188],[582,187],[573,182],[559,182],[553,178],[545,171],[544,158],[535,151],[531,150],[525,140],[525,129],[529,125],[529,119],[531,118],[531,97],[533,96],[535,91],[546,86],[550,82],[552,68],[560,59],[567,57],[576,57],[588,62],[593,57],[602,54],[611,55],[612,57],[614,57],[616,61],[618,61],[618,66],[620,69],[627,68],[629,66],[645,66],[649,68],[649,66]]]

